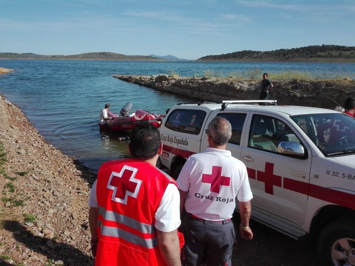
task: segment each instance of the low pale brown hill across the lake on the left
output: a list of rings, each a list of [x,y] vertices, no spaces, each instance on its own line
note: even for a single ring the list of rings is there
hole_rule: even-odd
[[[78,55],[37,55],[31,52],[22,54],[14,52],[0,52],[0,59],[78,59],[78,60],[147,60],[164,61],[147,55],[123,55],[114,52],[86,52]]]

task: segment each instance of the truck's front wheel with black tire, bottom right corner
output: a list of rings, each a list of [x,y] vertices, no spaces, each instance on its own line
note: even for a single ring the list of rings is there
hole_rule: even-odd
[[[317,253],[324,266],[355,265],[355,219],[340,218],[324,227]]]

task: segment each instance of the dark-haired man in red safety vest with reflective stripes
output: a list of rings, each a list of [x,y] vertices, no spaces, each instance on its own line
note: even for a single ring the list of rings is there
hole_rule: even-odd
[[[130,135],[132,159],[100,167],[89,199],[95,265],[181,265],[179,192],[155,167],[162,149],[157,128],[142,123]]]

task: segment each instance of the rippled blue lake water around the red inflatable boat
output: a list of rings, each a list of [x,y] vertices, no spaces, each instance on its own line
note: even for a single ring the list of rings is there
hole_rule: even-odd
[[[2,60],[0,66],[16,70],[0,76],[0,93],[22,109],[50,144],[94,171],[105,161],[129,157],[127,142],[117,139],[127,134],[99,131],[99,114],[107,102],[113,112],[132,101],[133,110],[165,114],[172,105],[189,101],[189,95],[160,93],[113,74],[203,76],[205,70],[227,74],[258,68],[355,78],[355,63]]]

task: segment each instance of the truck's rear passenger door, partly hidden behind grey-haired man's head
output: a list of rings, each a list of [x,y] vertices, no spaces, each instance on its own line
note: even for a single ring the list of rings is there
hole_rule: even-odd
[[[222,116],[228,120],[232,126],[232,137],[230,138],[229,142],[227,143],[226,150],[230,150],[232,153],[232,156],[234,158],[237,158],[240,160],[240,154],[241,154],[241,147],[244,142],[244,138],[242,138],[242,135],[244,135],[245,131],[245,124],[247,121],[247,117],[250,112],[235,112],[235,111],[218,111],[212,114],[210,121],[212,118],[215,116]],[[206,123],[206,128],[209,124],[209,122]],[[204,147],[208,146],[207,143],[207,135],[204,134],[204,141],[203,141]]]

